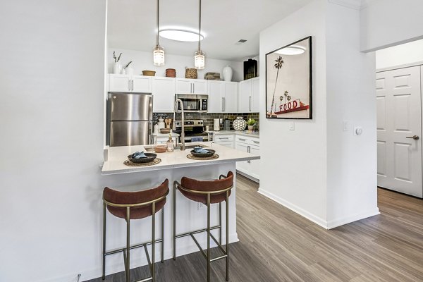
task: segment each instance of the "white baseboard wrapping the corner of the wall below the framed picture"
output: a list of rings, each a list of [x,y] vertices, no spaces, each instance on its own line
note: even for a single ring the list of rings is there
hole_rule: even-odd
[[[328,230],[332,228],[336,228],[338,226],[343,226],[345,224],[358,221],[361,219],[367,219],[367,217],[370,217],[370,216],[376,216],[380,214],[379,208],[376,207],[375,209],[372,209],[371,211],[368,211],[368,212],[360,212],[360,214],[354,214],[353,216],[347,216],[341,219],[326,221],[324,219],[319,218],[318,216],[314,216],[314,214],[310,214],[305,209],[302,209],[296,206],[295,204],[292,204],[286,200],[283,200],[281,197],[278,197],[271,192],[267,192],[266,190],[259,188],[259,193],[264,195],[265,197],[268,197],[270,200],[274,200],[278,204],[283,205],[283,207],[286,207],[290,209],[291,211],[296,212],[297,214],[300,214],[300,216],[305,217],[309,221],[312,221],[316,223],[317,225]]]

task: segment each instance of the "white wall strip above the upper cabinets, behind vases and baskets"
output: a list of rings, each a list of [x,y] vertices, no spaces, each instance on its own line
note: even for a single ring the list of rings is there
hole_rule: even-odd
[[[121,63],[125,66],[129,61],[133,61],[133,68],[135,74],[142,74],[142,71],[156,71],[156,76],[165,76],[166,68],[175,68],[177,78],[185,78],[185,67],[194,67],[194,51],[192,56],[178,56],[166,54],[165,66],[154,66],[153,65],[153,52],[128,50],[128,49],[116,49],[110,48],[108,50],[107,58],[109,59],[109,73],[113,73],[113,51],[116,51],[116,56],[122,52]],[[221,80],[223,80],[222,69],[225,66],[231,66],[233,70],[232,81],[243,80],[243,62],[237,61],[223,61],[216,59],[208,59],[206,54],[206,68],[199,70],[198,78],[204,79],[206,73],[220,73]]]

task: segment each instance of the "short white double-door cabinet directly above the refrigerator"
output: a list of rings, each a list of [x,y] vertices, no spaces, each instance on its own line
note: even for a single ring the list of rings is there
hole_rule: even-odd
[[[152,92],[152,77],[144,75],[109,75],[109,92]]]

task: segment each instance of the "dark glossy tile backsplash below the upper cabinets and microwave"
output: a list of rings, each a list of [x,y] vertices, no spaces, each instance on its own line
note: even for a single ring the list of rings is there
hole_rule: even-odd
[[[231,121],[231,130],[233,130],[232,122],[237,118],[238,116],[243,116],[245,121],[247,121],[248,118],[254,118],[256,121],[256,124],[254,125],[254,130],[259,130],[260,128],[260,118],[259,113],[225,113],[225,114],[196,114],[196,113],[188,113],[185,114],[185,120],[189,119],[202,119],[204,121],[204,126],[209,125],[211,129],[213,129],[213,118],[222,118],[223,121],[228,118],[229,121]],[[153,123],[157,123],[159,120],[159,117],[163,118],[173,118],[173,114],[171,113],[154,113],[153,114]],[[176,115],[176,119],[180,119],[180,115]],[[221,130],[223,130],[223,123],[220,125]]]

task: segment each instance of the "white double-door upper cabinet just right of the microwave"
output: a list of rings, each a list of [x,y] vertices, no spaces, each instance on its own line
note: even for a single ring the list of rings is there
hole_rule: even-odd
[[[236,113],[238,111],[238,82],[209,80],[209,113]]]

